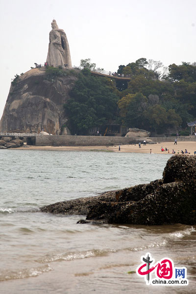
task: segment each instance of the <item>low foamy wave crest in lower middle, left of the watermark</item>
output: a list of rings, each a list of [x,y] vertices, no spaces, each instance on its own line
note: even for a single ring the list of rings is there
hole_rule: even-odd
[[[115,249],[93,249],[81,252],[59,253],[59,254],[47,254],[45,257],[36,260],[39,263],[49,263],[53,261],[70,261],[75,259],[84,259],[89,257],[106,256],[109,252],[116,252]]]

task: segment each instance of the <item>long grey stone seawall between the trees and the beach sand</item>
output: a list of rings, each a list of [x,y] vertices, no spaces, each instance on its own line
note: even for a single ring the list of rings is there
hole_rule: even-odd
[[[141,137],[104,137],[104,136],[63,136],[63,135],[44,135],[36,137],[36,146],[105,146],[143,143],[146,139],[147,144],[156,142],[174,142],[172,138],[141,138]],[[196,141],[195,137],[179,137],[178,141]]]

